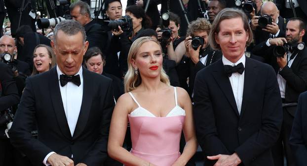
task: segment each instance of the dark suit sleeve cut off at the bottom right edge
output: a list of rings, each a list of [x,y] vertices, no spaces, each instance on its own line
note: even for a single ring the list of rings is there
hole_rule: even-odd
[[[299,103],[290,135],[290,147],[297,166],[307,166],[307,92],[299,97]]]

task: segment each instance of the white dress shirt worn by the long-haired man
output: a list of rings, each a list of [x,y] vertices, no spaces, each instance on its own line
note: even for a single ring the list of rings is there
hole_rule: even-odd
[[[224,65],[230,65],[230,66],[235,66],[235,65],[238,65],[239,63],[242,63],[243,66],[245,67],[245,54],[243,54],[243,56],[235,64],[230,62],[223,55],[222,62]],[[242,99],[243,99],[244,73],[245,73],[245,70],[243,71],[242,74],[235,72],[235,73],[232,73],[231,76],[229,77],[230,85],[232,88],[232,93],[233,93],[234,100],[238,108],[239,114],[241,113],[241,106],[242,106]]]

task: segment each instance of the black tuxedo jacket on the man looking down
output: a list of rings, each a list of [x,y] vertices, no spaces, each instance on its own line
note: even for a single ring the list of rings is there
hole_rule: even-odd
[[[52,151],[69,158],[73,155],[75,165],[101,166],[107,157],[114,108],[111,82],[111,79],[83,68],[82,105],[71,136],[56,67],[29,77],[10,130],[12,144],[36,166],[42,165],[43,159]],[[38,139],[30,133],[35,121]]]

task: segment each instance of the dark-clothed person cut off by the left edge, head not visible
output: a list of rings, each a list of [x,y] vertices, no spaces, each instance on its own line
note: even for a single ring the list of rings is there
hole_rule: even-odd
[[[19,102],[18,91],[13,79],[12,70],[6,64],[0,62],[0,166],[12,165],[12,145],[4,133],[7,128],[6,109]],[[5,119],[4,119],[5,118]]]

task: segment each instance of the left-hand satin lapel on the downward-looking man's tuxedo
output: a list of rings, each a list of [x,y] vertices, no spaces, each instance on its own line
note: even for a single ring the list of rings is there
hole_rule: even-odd
[[[56,67],[53,67],[50,70],[50,81],[49,81],[49,89],[51,94],[51,100],[53,109],[60,127],[61,132],[68,139],[72,138],[71,132],[69,130],[67,118],[65,115],[65,110],[63,107],[63,101],[61,97],[61,91],[59,86],[59,78],[56,71]]]

